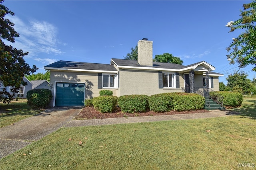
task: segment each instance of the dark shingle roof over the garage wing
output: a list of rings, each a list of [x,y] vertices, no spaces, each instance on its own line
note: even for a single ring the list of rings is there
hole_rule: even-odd
[[[82,63],[73,61],[57,61],[45,67],[116,71],[116,68],[110,64]]]

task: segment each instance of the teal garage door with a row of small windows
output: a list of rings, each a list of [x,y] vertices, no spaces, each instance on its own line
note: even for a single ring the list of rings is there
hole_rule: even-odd
[[[57,83],[55,106],[84,106],[84,83]]]

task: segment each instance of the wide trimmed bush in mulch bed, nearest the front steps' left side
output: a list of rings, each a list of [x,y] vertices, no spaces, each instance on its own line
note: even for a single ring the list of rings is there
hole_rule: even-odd
[[[172,108],[176,111],[192,111],[203,109],[205,99],[199,94],[193,93],[169,93],[172,96]]]

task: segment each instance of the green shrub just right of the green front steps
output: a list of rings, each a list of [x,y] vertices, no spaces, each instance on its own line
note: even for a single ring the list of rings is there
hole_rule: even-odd
[[[241,106],[244,99],[244,96],[239,92],[210,92],[210,96],[223,97],[223,105],[231,107]]]

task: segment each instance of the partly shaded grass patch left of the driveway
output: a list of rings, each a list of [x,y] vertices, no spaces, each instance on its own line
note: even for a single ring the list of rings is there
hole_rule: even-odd
[[[0,127],[11,125],[42,111],[40,109],[32,109],[27,105],[27,100],[24,99],[20,99],[17,102],[13,101],[10,104],[1,103]]]

